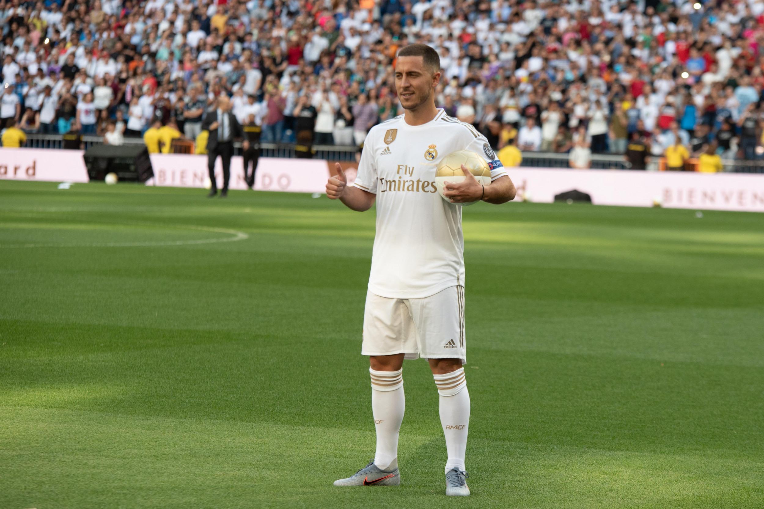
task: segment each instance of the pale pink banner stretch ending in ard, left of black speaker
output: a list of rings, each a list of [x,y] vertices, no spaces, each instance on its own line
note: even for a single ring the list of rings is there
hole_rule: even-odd
[[[89,182],[83,151],[0,148],[0,180]]]

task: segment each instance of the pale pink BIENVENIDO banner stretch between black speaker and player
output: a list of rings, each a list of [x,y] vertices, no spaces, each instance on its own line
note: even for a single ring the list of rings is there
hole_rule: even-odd
[[[209,178],[207,156],[194,154],[151,154],[154,179],[148,186],[204,187]],[[223,167],[215,161],[215,177],[222,187]],[[287,193],[324,193],[329,167],[322,159],[261,157],[257,162],[254,189]],[[231,180],[228,189],[245,190],[244,158],[231,157]]]

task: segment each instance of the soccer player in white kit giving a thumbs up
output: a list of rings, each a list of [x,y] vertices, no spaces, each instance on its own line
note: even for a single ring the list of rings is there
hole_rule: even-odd
[[[435,108],[438,53],[411,44],[398,53],[395,85],[405,112],[375,125],[364,141],[358,177],[337,175],[326,195],[359,212],[377,203],[377,235],[364,310],[361,354],[371,363],[371,408],[377,430],[374,459],[337,486],[400,485],[398,432],[406,406],[403,359],[427,358],[440,394],[445,435],[445,494],[467,496],[465,449],[470,397],[465,371],[465,262],[461,206],[506,203],[515,187],[486,138],[472,125]],[[474,151],[488,161],[491,183],[448,183],[442,199],[435,169],[442,157]]]

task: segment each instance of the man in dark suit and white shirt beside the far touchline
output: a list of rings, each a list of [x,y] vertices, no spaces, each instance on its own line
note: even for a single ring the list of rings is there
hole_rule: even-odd
[[[228,196],[228,180],[231,177],[231,156],[234,154],[234,138],[243,138],[244,131],[231,113],[231,101],[226,96],[220,96],[216,102],[217,108],[205,115],[202,121],[202,131],[209,131],[207,152],[209,153],[209,180],[212,189],[209,197],[218,193],[218,183],[215,181],[215,160],[220,156],[223,164],[223,187],[220,197]],[[249,142],[244,140],[244,150],[249,148]]]

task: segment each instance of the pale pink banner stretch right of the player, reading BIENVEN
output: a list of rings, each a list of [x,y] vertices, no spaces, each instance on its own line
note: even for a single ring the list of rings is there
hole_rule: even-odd
[[[764,212],[764,175],[681,171],[507,168],[516,199],[551,203],[555,194],[579,190],[595,205]]]

